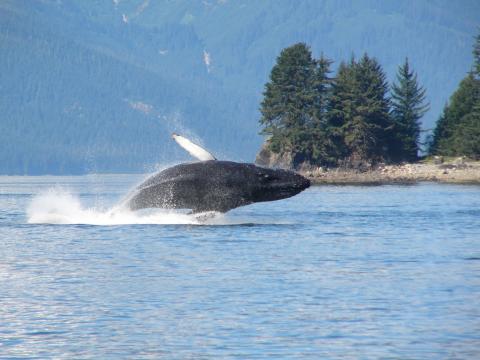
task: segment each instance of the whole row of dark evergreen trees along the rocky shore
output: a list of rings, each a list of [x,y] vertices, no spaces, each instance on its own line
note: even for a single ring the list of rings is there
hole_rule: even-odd
[[[475,68],[452,96],[427,143],[431,154],[480,156],[479,44],[477,37]],[[424,145],[420,120],[429,103],[408,58],[391,86],[381,65],[367,53],[342,61],[335,76],[332,63],[323,55],[313,58],[305,43],[282,50],[260,108],[268,148],[291,154],[295,167],[358,168],[418,160]]]

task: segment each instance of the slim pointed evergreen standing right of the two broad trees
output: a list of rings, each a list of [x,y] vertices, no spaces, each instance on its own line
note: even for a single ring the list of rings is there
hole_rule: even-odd
[[[417,160],[420,141],[420,119],[429,109],[425,89],[418,84],[408,58],[399,67],[397,82],[392,85],[392,119],[394,134],[392,157],[395,160]]]

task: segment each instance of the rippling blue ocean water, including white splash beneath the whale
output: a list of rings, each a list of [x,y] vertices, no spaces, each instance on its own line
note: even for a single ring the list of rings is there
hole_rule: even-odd
[[[480,186],[205,220],[119,211],[141,179],[0,177],[0,358],[480,358]]]

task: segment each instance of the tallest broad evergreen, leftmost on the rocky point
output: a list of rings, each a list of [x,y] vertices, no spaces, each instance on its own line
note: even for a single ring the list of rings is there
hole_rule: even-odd
[[[326,156],[325,106],[331,61],[315,60],[304,43],[284,49],[265,85],[261,104],[262,134],[270,149],[291,153],[294,165],[321,163]]]

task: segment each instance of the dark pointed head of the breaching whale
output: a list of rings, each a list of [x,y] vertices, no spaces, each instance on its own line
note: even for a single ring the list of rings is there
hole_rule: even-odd
[[[293,171],[255,167],[255,201],[286,199],[310,186],[310,180]]]

